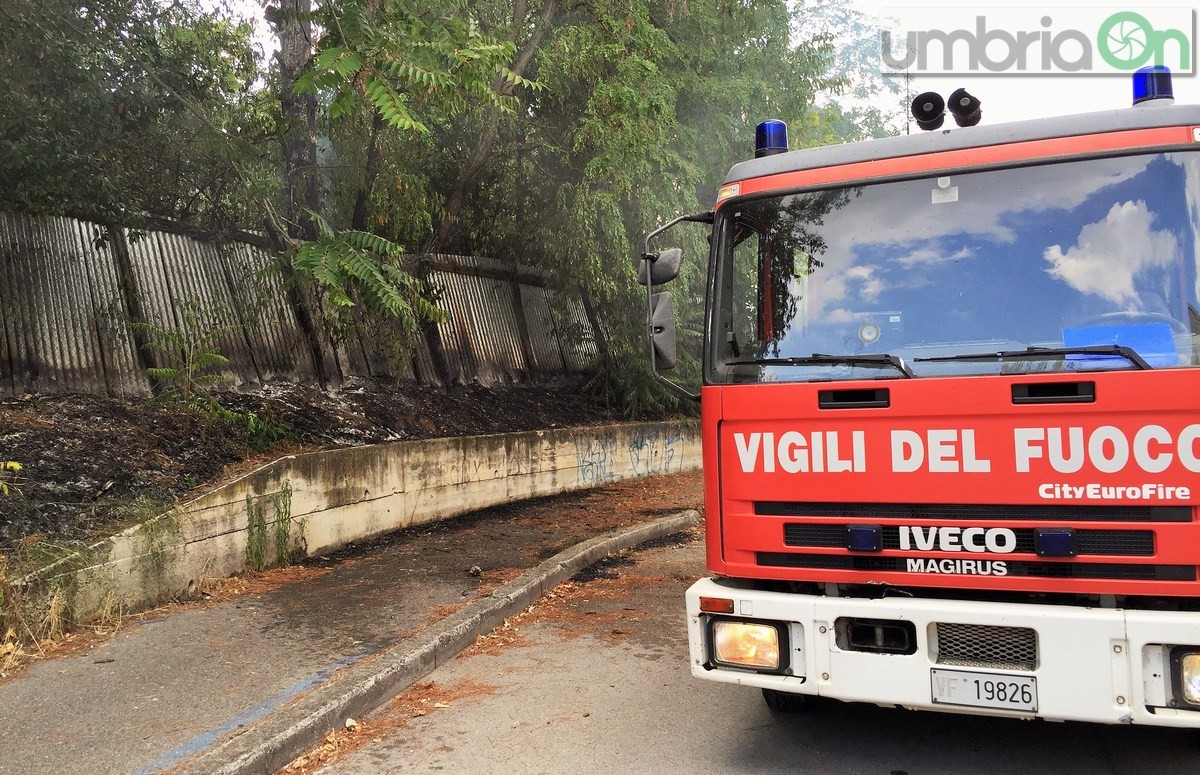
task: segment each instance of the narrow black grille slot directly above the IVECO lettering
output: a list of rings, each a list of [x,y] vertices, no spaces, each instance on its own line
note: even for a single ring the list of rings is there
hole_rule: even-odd
[[[754,512],[775,517],[845,517],[865,519],[1024,519],[1027,522],[1192,522],[1190,506],[1133,505],[989,505],[902,503],[773,503],[758,501]]]

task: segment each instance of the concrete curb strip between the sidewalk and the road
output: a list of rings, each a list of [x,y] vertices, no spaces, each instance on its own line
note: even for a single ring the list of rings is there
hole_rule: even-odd
[[[698,512],[682,511],[576,543],[499,587],[487,597],[347,668],[293,704],[170,771],[179,775],[276,773],[316,745],[330,729],[340,728],[347,717],[378,708],[454,659],[478,636],[492,631],[588,565],[614,552],[698,523]]]

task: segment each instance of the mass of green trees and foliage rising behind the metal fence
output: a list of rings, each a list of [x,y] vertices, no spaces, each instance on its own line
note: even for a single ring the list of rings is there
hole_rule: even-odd
[[[606,347],[593,384],[637,415],[677,405],[644,354],[642,236],[710,208],[762,119],[786,120],[793,145],[894,128],[856,102],[888,84],[864,71],[863,16],[834,0],[275,5],[275,31],[298,48],[268,70],[252,28],[211,4],[0,2],[0,210],[216,230],[265,220],[294,240],[283,260],[326,302],[335,337],[386,320],[406,340],[439,319],[402,246],[534,265],[563,298],[594,300]],[[706,252],[688,240],[671,287],[685,353]],[[188,349],[187,320],[176,329],[182,340],[150,335],[172,353],[152,377],[227,419],[210,401],[220,336]],[[685,358],[677,376],[697,367]]]

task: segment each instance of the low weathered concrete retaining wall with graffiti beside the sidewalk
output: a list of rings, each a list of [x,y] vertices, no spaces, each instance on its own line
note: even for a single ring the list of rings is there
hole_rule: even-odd
[[[89,552],[30,585],[70,589],[77,621],[194,594],[476,509],[701,467],[695,422],[395,441],[284,457]],[[80,567],[84,565],[85,567]]]

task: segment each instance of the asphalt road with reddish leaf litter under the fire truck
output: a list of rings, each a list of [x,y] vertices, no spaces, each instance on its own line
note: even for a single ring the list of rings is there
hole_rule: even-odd
[[[775,715],[688,672],[692,540],[560,587],[343,734],[322,768],[386,773],[1193,774],[1193,732],[914,713],[839,702]]]

